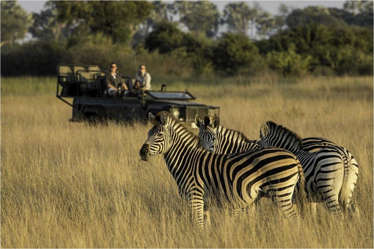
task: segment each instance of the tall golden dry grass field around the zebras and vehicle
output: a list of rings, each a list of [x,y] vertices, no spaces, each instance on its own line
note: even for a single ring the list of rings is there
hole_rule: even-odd
[[[373,248],[372,76],[153,79],[153,89],[165,82],[220,106],[221,124],[249,139],[273,120],[347,148],[361,217],[318,205],[297,226],[263,198],[253,216],[212,207],[199,233],[163,157],[140,160],[151,124],[71,123],[54,77],[1,77],[2,248]]]

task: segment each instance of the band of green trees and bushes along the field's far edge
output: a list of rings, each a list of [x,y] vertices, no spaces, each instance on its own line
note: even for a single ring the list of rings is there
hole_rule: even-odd
[[[195,74],[373,74],[373,16],[373,1],[281,4],[277,15],[245,1],[222,13],[211,1],[47,1],[31,15],[1,1],[1,68],[54,73],[62,61],[126,64],[126,56],[144,56]],[[33,39],[19,42],[27,32]]]

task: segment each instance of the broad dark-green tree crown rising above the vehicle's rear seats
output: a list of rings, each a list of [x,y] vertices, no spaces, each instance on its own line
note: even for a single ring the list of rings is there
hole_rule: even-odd
[[[113,42],[129,43],[139,24],[148,18],[148,1],[53,1],[58,18],[73,27],[102,33]]]

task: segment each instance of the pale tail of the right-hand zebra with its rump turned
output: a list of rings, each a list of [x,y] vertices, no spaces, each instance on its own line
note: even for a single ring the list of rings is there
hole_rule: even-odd
[[[350,170],[350,167],[353,165],[357,166],[357,163],[356,163],[356,160],[352,157],[352,155],[350,155],[348,151],[344,151],[344,152],[346,152],[346,153],[343,153],[344,175],[343,175],[343,184],[341,185],[341,189],[339,193],[339,205],[342,211],[346,212],[348,205],[351,201],[350,199],[352,197],[352,191],[353,191],[354,185],[356,184],[356,179],[357,179],[357,176],[352,175],[352,174],[355,174],[355,172],[354,170]]]

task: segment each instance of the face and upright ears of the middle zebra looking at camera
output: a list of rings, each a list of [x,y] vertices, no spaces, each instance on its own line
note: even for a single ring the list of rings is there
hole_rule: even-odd
[[[195,116],[195,124],[199,127],[200,145],[208,151],[214,152],[215,137],[218,125],[220,125],[220,118],[215,116],[211,119],[209,116],[204,117],[204,122],[199,115]]]

